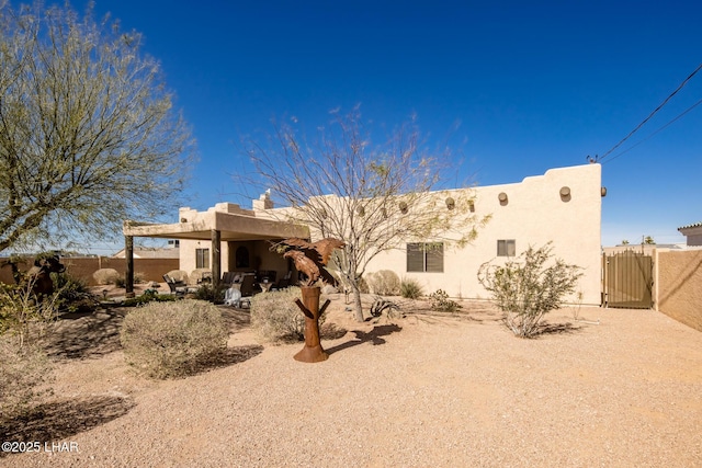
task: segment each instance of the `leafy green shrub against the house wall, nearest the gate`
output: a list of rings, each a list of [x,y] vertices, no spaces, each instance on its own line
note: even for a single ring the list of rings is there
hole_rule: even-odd
[[[503,266],[480,265],[478,281],[505,312],[505,323],[517,335],[539,334],[543,317],[561,307],[563,298],[575,292],[582,275],[577,265],[553,259],[551,242],[540,249],[530,247]]]

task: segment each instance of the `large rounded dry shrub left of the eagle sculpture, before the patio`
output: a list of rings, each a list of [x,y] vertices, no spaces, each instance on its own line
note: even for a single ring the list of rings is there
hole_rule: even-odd
[[[161,379],[196,373],[222,353],[227,338],[219,309],[191,299],[136,308],[120,334],[127,363]]]

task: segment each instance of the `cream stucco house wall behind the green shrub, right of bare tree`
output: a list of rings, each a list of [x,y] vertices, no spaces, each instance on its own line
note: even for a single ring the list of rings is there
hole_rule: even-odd
[[[570,189],[568,201],[562,199],[559,194],[563,186]],[[444,273],[407,273],[404,246],[378,255],[367,271],[393,270],[400,277],[417,279],[427,294],[441,288],[453,297],[488,298],[477,279],[477,271],[484,262],[506,260],[496,258],[498,239],[514,239],[517,254],[529,246],[541,247],[553,241],[555,255],[584,269],[578,285],[584,304],[600,304],[602,197],[599,164],[553,169],[521,183],[473,190],[475,215],[491,214],[492,218],[471,246],[445,250]],[[498,199],[501,192],[508,196],[506,205]]]

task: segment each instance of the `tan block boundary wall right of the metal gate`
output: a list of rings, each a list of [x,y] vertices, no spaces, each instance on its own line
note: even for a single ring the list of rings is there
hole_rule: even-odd
[[[656,309],[702,331],[702,250],[657,251]]]

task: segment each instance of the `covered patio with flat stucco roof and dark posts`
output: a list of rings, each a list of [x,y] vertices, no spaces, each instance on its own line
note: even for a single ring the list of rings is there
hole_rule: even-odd
[[[258,204],[257,204],[258,202]],[[134,295],[134,238],[180,240],[180,269],[210,269],[218,287],[223,275],[256,274],[274,281],[293,270],[286,259],[271,252],[272,242],[298,237],[309,239],[309,228],[274,216],[265,195],[253,201],[253,209],[231,203],[218,203],[206,212],[180,208],[179,222],[151,224],[126,220],[125,237],[126,293]],[[275,210],[282,215],[282,210]],[[166,272],[165,272],[166,273]]]

